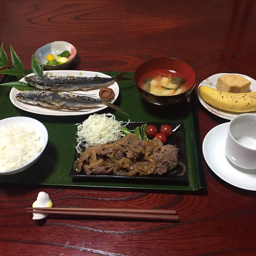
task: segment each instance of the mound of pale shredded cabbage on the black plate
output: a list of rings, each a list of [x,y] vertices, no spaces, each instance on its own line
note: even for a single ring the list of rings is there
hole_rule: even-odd
[[[77,126],[76,135],[78,138],[76,150],[80,153],[80,146],[88,148],[108,142],[120,140],[124,134],[122,133],[121,122],[116,120],[116,117],[108,114],[90,115],[82,124]]]

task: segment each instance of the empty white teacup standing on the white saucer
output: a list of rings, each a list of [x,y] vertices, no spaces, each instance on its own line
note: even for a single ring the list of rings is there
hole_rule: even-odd
[[[225,154],[241,168],[256,169],[256,114],[241,114],[230,121]]]

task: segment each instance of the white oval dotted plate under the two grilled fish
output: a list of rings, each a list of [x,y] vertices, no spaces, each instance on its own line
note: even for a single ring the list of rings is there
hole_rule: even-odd
[[[33,76],[35,75],[34,73],[31,73],[27,76]],[[95,77],[96,75],[99,77],[111,77],[108,75],[105,75],[103,73],[100,72],[93,72],[93,71],[81,71],[81,70],[49,70],[49,71],[44,71],[44,76],[83,76],[83,77]],[[26,82],[24,80],[24,78],[22,78],[20,80],[20,82]],[[115,97],[113,99],[112,102],[114,102],[119,94],[119,86],[117,84],[117,82],[115,82],[114,84],[108,86],[109,88],[111,88],[114,93],[115,93]],[[94,96],[91,96],[93,98],[99,97],[99,91],[100,89],[96,89],[96,90],[90,90],[90,91],[73,91],[73,93],[80,93],[80,94],[85,94],[85,95],[93,95],[96,94]],[[10,100],[12,102],[12,104],[14,106],[16,106],[17,108],[20,108],[22,110],[31,112],[31,113],[35,113],[35,114],[41,114],[41,115],[49,115],[49,116],[78,116],[78,115],[88,115],[88,114],[92,114],[95,113],[97,111],[100,111],[102,109],[107,108],[106,105],[99,105],[98,107],[92,107],[92,108],[88,108],[87,111],[68,111],[68,110],[55,110],[52,108],[46,108],[46,107],[42,107],[40,105],[31,105],[31,104],[27,104],[25,102],[19,101],[15,98],[16,94],[19,93],[20,91],[17,90],[16,88],[12,88],[10,91]]]

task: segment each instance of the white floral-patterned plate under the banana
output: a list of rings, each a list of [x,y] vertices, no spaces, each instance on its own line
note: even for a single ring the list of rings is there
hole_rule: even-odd
[[[219,77],[224,76],[224,75],[240,75],[245,77],[246,79],[248,79],[249,81],[251,81],[251,85],[250,85],[250,92],[254,92],[256,91],[256,80],[254,80],[253,78],[246,76],[246,75],[242,75],[242,74],[235,74],[235,73],[219,73],[219,74],[214,74],[210,77],[208,77],[207,79],[205,79],[204,81],[202,81],[199,86],[208,86],[208,87],[212,87],[214,89],[216,89],[216,83]],[[198,86],[198,88],[199,88]],[[214,106],[208,104],[207,102],[205,102],[199,95],[198,93],[198,99],[201,102],[201,104],[211,113],[213,113],[216,116],[222,117],[224,119],[228,119],[228,120],[232,120],[234,117],[236,117],[237,115],[243,114],[243,113],[237,113],[237,112],[230,112],[230,111],[225,111],[225,110],[221,110],[219,108],[215,108]],[[252,111],[249,113],[256,113],[256,111]]]

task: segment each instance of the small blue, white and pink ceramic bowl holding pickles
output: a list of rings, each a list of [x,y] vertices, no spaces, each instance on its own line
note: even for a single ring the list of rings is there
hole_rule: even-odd
[[[46,60],[47,55],[53,54],[55,59],[58,60],[57,55],[64,51],[70,52],[70,55],[67,57],[68,62],[60,65],[55,65],[55,66],[45,65],[47,62]],[[77,55],[76,48],[72,44],[65,41],[55,41],[55,42],[46,44],[40,47],[39,49],[37,49],[34,53],[34,57],[36,61],[40,65],[44,65],[45,68],[50,70],[61,70],[61,69],[67,68],[73,62],[76,55]]]

